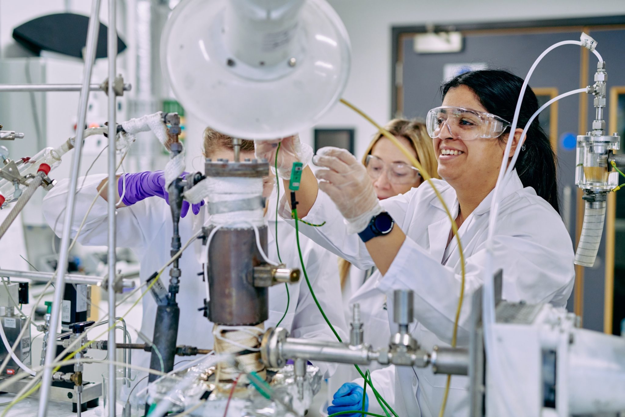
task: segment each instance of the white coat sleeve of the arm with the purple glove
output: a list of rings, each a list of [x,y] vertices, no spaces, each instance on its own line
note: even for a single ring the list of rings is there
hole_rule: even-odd
[[[98,194],[98,185],[106,176],[106,174],[96,174],[78,179],[79,191],[76,194],[74,218],[69,227],[71,236],[74,238],[84,216],[87,215],[83,229],[78,236],[78,242],[81,244],[89,246],[108,244],[108,202],[99,196],[95,198]],[[66,226],[63,222],[68,192],[69,179],[63,179],[47,193],[43,200],[44,217],[57,236],[61,236]],[[163,225],[165,211],[169,209],[169,206],[164,201],[160,201],[163,204],[157,204],[159,201],[151,200],[154,199],[147,198],[133,206],[117,210],[118,246],[142,248],[156,236]],[[91,203],[93,207],[89,211]]]

